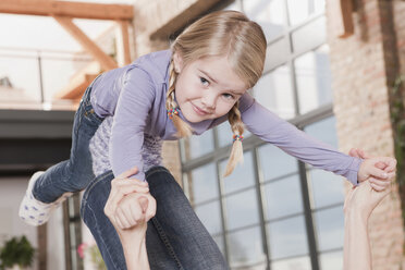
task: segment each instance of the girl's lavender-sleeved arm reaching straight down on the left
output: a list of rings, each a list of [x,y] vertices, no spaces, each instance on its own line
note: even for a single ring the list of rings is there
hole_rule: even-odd
[[[136,165],[139,169],[136,179],[145,181],[142,147],[155,95],[154,82],[142,68],[135,66],[125,74],[109,145],[110,162],[115,176]]]

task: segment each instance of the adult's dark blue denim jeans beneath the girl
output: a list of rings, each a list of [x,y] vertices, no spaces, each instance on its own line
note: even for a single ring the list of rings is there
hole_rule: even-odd
[[[83,196],[81,214],[108,269],[123,270],[126,265],[120,238],[103,212],[113,177],[109,171],[90,183]],[[146,172],[146,180],[157,201],[156,216],[149,220],[146,232],[150,269],[229,269],[172,174],[163,167],[154,167]]]

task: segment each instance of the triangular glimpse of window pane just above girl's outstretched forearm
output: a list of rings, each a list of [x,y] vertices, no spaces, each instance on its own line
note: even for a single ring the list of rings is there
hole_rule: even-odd
[[[336,119],[334,116],[307,125],[304,131],[310,136],[338,148]]]

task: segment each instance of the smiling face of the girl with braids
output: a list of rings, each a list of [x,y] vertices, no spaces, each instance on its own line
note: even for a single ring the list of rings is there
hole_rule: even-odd
[[[209,57],[187,65],[174,54],[179,75],[175,97],[184,118],[197,123],[226,114],[247,90],[225,57]]]

